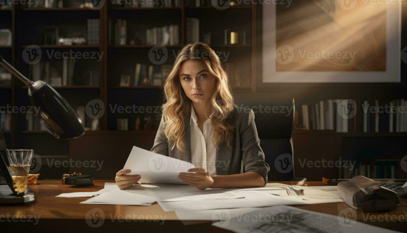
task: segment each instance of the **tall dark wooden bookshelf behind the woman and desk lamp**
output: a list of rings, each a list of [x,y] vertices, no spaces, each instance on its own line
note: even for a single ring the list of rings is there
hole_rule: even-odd
[[[66,1],[65,1],[66,2]],[[65,4],[64,2],[64,4]],[[71,3],[69,3],[71,4]],[[72,6],[72,5],[70,5]],[[92,10],[89,8],[64,7],[64,8],[25,8],[18,5],[13,9],[1,10],[3,15],[9,17],[9,28],[13,33],[13,44],[11,46],[0,46],[0,52],[5,58],[13,64],[24,75],[30,73],[30,66],[22,59],[22,53],[29,45],[36,44],[44,54],[52,52],[98,52],[103,53],[100,62],[87,64],[84,61],[77,60],[77,64],[89,66],[97,70],[98,81],[94,84],[68,84],[54,86],[64,98],[70,102],[74,109],[77,106],[85,105],[93,99],[103,100],[105,103],[105,113],[99,119],[99,127],[96,130],[87,130],[85,135],[103,135],[106,133],[118,135],[134,135],[136,137],[148,134],[155,135],[155,129],[135,129],[134,123],[136,118],[129,118],[129,130],[117,130],[116,118],[129,117],[129,114],[112,114],[110,113],[110,104],[138,106],[161,106],[163,101],[162,86],[119,86],[119,75],[123,73],[134,74],[134,65],[136,62],[151,64],[147,53],[153,47],[144,43],[145,30],[153,27],[161,27],[164,24],[179,25],[179,44],[166,45],[168,53],[171,53],[166,64],[171,65],[175,61],[175,55],[179,49],[186,45],[186,17],[199,18],[210,27],[217,27],[218,30],[212,35],[211,47],[217,52],[230,53],[231,64],[245,57],[247,60],[248,86],[232,86],[236,93],[255,92],[254,88],[255,75],[253,65],[255,64],[256,41],[256,7],[231,7],[225,11],[214,11],[214,7],[186,7],[184,0],[181,1],[180,7],[154,7],[154,8],[127,8],[115,7],[111,2],[105,4],[102,9]],[[238,10],[238,11],[236,11]],[[4,11],[4,12],[3,12]],[[239,13],[239,17],[236,16]],[[4,16],[3,16],[4,17]],[[214,17],[213,19],[211,19]],[[236,19],[242,19],[243,25],[236,24]],[[53,20],[50,20],[52,18]],[[98,19],[99,22],[99,44],[73,44],[57,45],[45,44],[42,38],[42,26],[55,26],[59,29],[61,37],[69,37],[71,31],[77,31],[81,36],[86,37],[86,20]],[[109,44],[109,18],[124,18],[128,20],[127,30],[129,36],[126,44]],[[226,22],[219,23],[222,18],[229,18]],[[236,22],[234,22],[234,20]],[[243,22],[242,21],[242,22]],[[235,25],[236,24],[236,25]],[[138,28],[142,25],[141,28]],[[136,27],[137,26],[137,27]],[[246,44],[244,45],[224,45],[223,29],[228,27],[244,27],[246,31]],[[215,31],[215,30],[214,30]],[[141,33],[142,41],[136,44],[130,44],[129,40],[133,35]],[[202,38],[201,40],[202,41]],[[9,53],[9,55],[4,55]],[[54,58],[45,60],[53,60]],[[58,59],[54,59],[58,60]],[[59,67],[60,64],[57,64]],[[126,68],[127,66],[127,68]],[[75,70],[77,67],[75,67]],[[80,75],[79,75],[80,76]],[[131,77],[133,78],[133,77]],[[29,106],[30,103],[26,98],[27,88],[19,81],[12,79],[11,84],[0,84],[0,93],[10,95],[9,104],[14,106]],[[137,115],[137,114],[136,114]],[[7,132],[10,137],[10,147],[33,147],[36,153],[40,155],[52,155],[52,148],[59,145],[61,148],[67,148],[68,142],[60,142],[50,136],[42,129],[27,130],[25,126],[25,117],[23,113],[12,114],[12,129]],[[159,122],[158,122],[159,123]],[[33,142],[38,142],[33,144]],[[69,151],[60,151],[59,154],[69,154]]]

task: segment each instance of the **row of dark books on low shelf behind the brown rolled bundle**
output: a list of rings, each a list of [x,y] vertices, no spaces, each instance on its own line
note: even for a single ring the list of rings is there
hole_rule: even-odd
[[[377,161],[372,164],[360,164],[359,167],[341,168],[342,174],[339,178],[350,179],[357,175],[363,175],[367,178],[389,178],[395,179],[397,176],[397,161]]]

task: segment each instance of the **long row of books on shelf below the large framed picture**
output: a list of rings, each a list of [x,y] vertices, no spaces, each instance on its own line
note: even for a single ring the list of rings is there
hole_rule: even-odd
[[[339,133],[407,132],[407,102],[405,99],[321,100],[299,108],[299,125]]]

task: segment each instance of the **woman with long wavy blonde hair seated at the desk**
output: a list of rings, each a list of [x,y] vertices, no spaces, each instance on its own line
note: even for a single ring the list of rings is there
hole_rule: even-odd
[[[186,45],[164,84],[166,102],[151,151],[187,162],[196,168],[178,178],[200,190],[260,187],[267,183],[269,165],[260,148],[254,112],[236,107],[228,77],[216,53],[206,44]],[[116,173],[120,189],[139,175]]]

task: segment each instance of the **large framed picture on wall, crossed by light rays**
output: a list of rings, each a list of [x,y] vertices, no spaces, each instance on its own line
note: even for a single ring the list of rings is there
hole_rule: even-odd
[[[263,82],[400,82],[400,4],[263,5]]]

